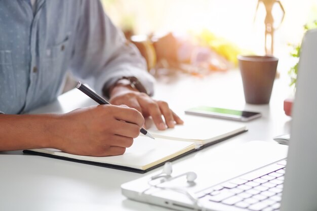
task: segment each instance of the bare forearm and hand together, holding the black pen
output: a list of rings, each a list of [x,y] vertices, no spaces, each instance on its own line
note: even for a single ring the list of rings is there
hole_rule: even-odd
[[[78,155],[123,154],[140,134],[142,114],[98,105],[66,114],[1,114],[0,151],[55,148]]]

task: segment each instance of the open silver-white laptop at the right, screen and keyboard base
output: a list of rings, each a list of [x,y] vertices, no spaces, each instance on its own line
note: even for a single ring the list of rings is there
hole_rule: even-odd
[[[197,179],[200,180],[193,181],[193,178],[189,181],[189,173],[171,179],[167,171],[125,183],[121,186],[122,193],[132,200],[176,210],[317,210],[316,53],[317,30],[309,30],[302,41],[287,159],[281,155],[283,149],[278,149],[284,145],[275,144],[274,147],[267,148],[263,144],[266,142],[262,142],[263,146],[253,143],[248,147],[255,150],[254,159],[249,159],[237,168],[234,165],[229,166],[230,162],[223,168],[217,167],[215,162],[210,170],[208,165],[190,163],[190,159],[187,159],[176,165],[190,166],[188,171],[194,168]],[[276,151],[261,154],[270,149]],[[243,154],[237,155],[236,159],[242,159]],[[214,156],[215,159],[218,156],[219,165],[226,160],[221,153],[215,153]],[[257,164],[263,165],[252,166],[253,160],[258,160]],[[225,168],[230,169],[226,171]],[[217,172],[212,171],[215,169]]]

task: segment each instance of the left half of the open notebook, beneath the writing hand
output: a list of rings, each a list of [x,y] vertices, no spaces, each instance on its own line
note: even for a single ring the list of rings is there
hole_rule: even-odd
[[[175,159],[195,149],[191,142],[169,141],[167,139],[151,140],[145,136],[134,139],[133,145],[123,155],[94,157],[74,155],[57,149],[24,150],[25,153],[76,161],[81,163],[116,168],[137,173],[145,173],[154,166],[167,160]]]

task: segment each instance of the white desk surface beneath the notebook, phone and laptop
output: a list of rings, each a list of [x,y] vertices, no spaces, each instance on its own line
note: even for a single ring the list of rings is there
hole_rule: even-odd
[[[262,112],[263,117],[247,122],[249,132],[211,146],[198,153],[241,144],[252,140],[273,142],[272,137],[289,133],[291,118],[283,111],[288,87],[275,80],[269,105],[245,104],[238,71],[214,73],[204,78],[183,76],[174,83],[160,80],[155,99],[169,102],[182,113],[196,105],[221,106]],[[58,101],[35,112],[66,112],[73,106],[94,104],[78,90],[72,90]],[[197,153],[173,163],[190,159]],[[161,171],[162,168],[151,171]],[[162,207],[126,199],[122,183],[144,175],[64,160],[23,155],[21,151],[0,154],[0,210],[166,210]]]

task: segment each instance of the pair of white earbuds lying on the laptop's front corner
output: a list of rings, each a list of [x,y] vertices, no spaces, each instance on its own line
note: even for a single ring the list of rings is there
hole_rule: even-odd
[[[165,180],[163,182],[167,182],[167,181],[171,181],[171,180],[174,180],[176,178],[179,178],[179,177],[182,177],[182,176],[186,175],[187,182],[194,182],[195,179],[197,178],[197,175],[194,172],[186,172],[186,173],[183,173],[183,174],[175,176],[175,177],[172,177],[172,172],[173,172],[172,163],[171,162],[166,162],[164,164],[164,168],[163,168],[162,173],[160,173],[158,175],[155,175],[155,176],[152,176],[151,180],[156,180],[156,179],[159,179],[159,178],[165,178]]]

